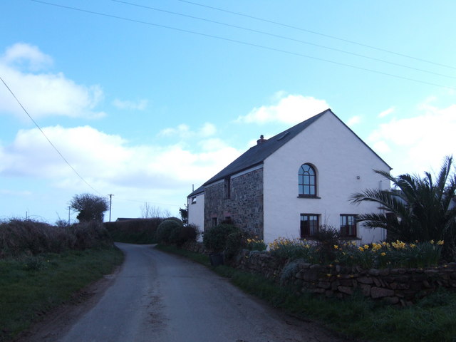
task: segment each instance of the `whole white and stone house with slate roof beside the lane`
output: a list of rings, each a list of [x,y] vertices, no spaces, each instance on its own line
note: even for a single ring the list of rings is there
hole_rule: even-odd
[[[379,212],[377,204],[349,202],[354,192],[390,188],[373,170],[391,168],[328,109],[267,140],[261,135],[187,197],[189,222],[206,230],[232,221],[266,243],[311,239],[322,225],[376,242],[385,231],[363,227],[356,216]]]

